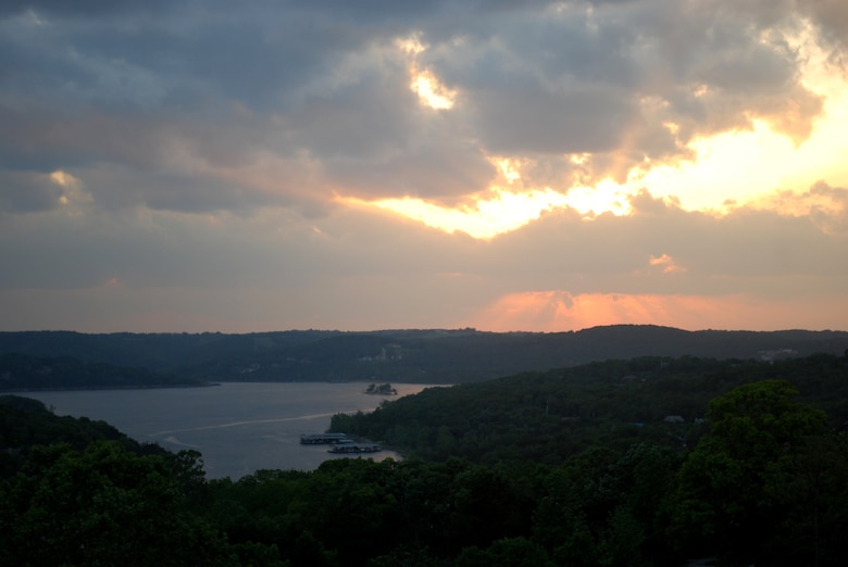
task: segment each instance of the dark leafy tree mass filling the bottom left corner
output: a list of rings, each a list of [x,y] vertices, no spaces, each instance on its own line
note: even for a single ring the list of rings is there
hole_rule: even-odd
[[[228,565],[167,463],[114,441],[35,446],[0,490],[3,565]]]

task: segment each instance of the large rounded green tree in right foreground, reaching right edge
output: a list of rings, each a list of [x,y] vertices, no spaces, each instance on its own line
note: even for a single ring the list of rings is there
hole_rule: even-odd
[[[845,478],[848,469],[826,414],[797,396],[789,382],[765,380],[710,402],[710,431],[679,472],[676,521],[690,545],[739,565],[774,565],[788,557],[819,563],[823,538],[814,526],[826,506],[846,504],[839,491],[828,490],[824,497],[822,475],[836,480],[833,475]],[[800,482],[797,470],[815,471],[815,486]],[[814,509],[798,506],[799,490],[816,500]],[[806,529],[799,532],[798,522]],[[805,540],[813,545],[802,545]]]

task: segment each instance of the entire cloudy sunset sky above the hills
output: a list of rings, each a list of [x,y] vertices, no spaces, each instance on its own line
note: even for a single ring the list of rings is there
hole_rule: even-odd
[[[4,0],[0,330],[848,329],[844,0]]]

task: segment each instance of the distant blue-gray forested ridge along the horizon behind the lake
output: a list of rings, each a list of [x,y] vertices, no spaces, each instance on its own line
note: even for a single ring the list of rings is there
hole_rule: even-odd
[[[634,325],[553,333],[474,329],[247,335],[0,332],[0,354],[73,356],[87,363],[174,374],[180,380],[220,381],[460,383],[610,358],[690,355],[780,360],[813,353],[841,355],[846,350],[846,331],[685,331]]]

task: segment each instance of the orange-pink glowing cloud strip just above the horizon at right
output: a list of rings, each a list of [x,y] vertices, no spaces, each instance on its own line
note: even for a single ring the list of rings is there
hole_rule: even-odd
[[[841,328],[848,301],[839,298],[764,300],[745,294],[660,295],[533,291],[511,293],[469,325],[490,331],[579,330],[599,325],[661,325],[687,330]]]

